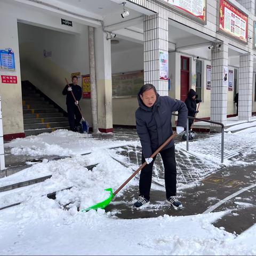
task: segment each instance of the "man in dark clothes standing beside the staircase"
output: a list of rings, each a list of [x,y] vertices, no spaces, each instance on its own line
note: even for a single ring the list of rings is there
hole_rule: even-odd
[[[68,122],[70,126],[70,130],[74,132],[81,132],[82,127],[80,121],[82,119],[81,113],[78,109],[79,100],[82,98],[82,87],[77,84],[78,78],[77,76],[72,77],[72,84],[65,86],[62,91],[63,95],[67,95],[66,104],[68,111]],[[73,98],[72,93],[74,94],[76,101]]]

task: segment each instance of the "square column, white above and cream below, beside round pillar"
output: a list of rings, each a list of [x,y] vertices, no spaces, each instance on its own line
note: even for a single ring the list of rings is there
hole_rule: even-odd
[[[98,125],[100,132],[113,132],[111,46],[102,28],[94,30]]]

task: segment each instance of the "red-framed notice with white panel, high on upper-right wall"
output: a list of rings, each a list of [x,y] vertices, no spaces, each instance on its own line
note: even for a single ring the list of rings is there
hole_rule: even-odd
[[[247,43],[248,16],[226,0],[219,8],[219,31]]]

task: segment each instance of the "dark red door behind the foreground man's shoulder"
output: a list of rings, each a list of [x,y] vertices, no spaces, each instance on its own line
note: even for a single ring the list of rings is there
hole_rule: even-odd
[[[185,101],[189,91],[189,58],[180,57],[180,100]]]

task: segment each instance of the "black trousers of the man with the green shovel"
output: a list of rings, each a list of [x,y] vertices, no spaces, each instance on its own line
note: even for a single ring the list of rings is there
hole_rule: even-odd
[[[175,160],[175,149],[174,146],[160,151],[161,157],[164,163],[164,181],[166,198],[176,195],[176,160]],[[152,169],[155,162],[156,156],[150,164],[147,164],[140,173],[140,196],[145,197],[149,200],[150,188],[152,182]],[[141,162],[145,162],[145,158],[142,154]]]

